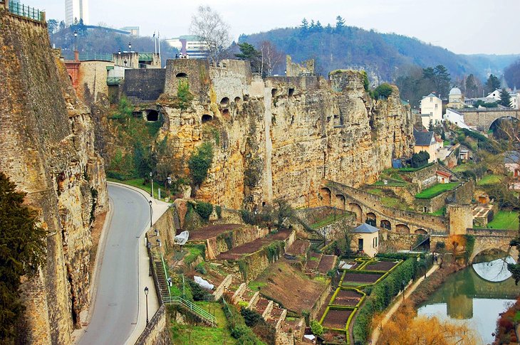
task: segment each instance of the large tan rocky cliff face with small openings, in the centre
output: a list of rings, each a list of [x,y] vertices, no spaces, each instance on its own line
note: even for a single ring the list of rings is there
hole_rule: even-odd
[[[314,206],[321,179],[370,183],[392,158],[410,154],[411,113],[397,88],[388,100],[373,100],[359,71],[336,71],[329,80],[262,80],[248,67],[236,60],[168,61],[160,140],[167,137],[178,158],[204,141],[214,144],[197,198],[232,208],[277,197]],[[187,110],[167,101],[181,80],[195,95]]]

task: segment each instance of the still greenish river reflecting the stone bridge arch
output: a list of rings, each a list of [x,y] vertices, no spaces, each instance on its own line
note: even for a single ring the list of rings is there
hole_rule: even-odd
[[[507,258],[508,262],[514,262]],[[417,310],[417,314],[467,322],[478,331],[484,344],[494,340],[499,313],[513,303],[520,292],[504,260],[481,262],[454,273]]]

